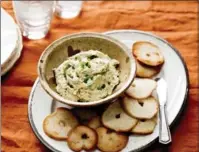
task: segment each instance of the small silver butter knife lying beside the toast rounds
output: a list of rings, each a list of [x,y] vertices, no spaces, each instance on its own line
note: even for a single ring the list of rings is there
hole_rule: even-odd
[[[159,128],[159,142],[162,144],[168,144],[171,140],[171,133],[168,125],[168,119],[166,115],[166,101],[167,101],[167,84],[163,78],[156,78],[157,81],[157,95],[159,99],[159,117],[160,117],[160,128]]]

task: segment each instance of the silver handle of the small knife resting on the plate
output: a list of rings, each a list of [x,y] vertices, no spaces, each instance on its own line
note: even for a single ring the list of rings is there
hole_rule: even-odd
[[[165,105],[160,105],[159,142],[162,144],[168,144],[171,142],[171,133],[170,133],[165,109],[166,109]]]

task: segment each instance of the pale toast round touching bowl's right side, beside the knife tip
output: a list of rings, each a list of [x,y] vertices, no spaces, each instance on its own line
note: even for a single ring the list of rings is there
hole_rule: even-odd
[[[135,78],[126,93],[134,99],[144,99],[152,94],[156,86],[156,81],[152,79]]]

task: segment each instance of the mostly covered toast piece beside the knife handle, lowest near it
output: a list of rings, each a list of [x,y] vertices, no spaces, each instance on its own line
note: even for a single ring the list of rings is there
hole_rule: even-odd
[[[135,134],[150,134],[154,131],[157,124],[157,117],[148,120],[139,120],[136,126],[132,129]]]

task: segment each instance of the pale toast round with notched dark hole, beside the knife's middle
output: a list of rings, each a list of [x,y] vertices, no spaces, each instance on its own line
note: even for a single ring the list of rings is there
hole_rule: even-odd
[[[154,97],[146,99],[133,99],[125,97],[123,99],[123,107],[125,111],[132,117],[138,119],[151,119],[158,112],[158,102]]]

